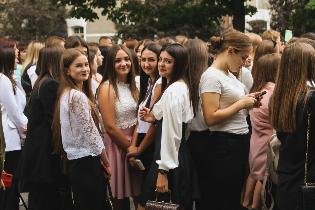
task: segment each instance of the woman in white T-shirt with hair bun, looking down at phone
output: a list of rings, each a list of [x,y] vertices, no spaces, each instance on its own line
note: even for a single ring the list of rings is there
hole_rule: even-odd
[[[199,85],[211,140],[207,158],[211,173],[205,184],[209,190],[215,189],[208,202],[213,209],[238,209],[250,139],[243,111],[259,108],[260,98],[254,97],[261,92],[245,95],[245,86],[229,72],[238,71],[248,58],[252,50],[249,37],[238,31],[223,38],[211,37],[211,48],[218,51],[217,59],[203,73]]]

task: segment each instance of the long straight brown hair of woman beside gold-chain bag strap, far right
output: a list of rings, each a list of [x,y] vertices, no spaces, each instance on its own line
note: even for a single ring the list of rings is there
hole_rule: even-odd
[[[277,131],[296,131],[296,108],[306,110],[308,93],[315,89],[315,50],[306,43],[292,43],[284,48],[276,85],[269,101],[269,121]],[[307,85],[309,81],[312,87]]]

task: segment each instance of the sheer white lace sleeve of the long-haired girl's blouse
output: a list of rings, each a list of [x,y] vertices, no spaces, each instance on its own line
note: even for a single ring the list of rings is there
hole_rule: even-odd
[[[82,125],[82,136],[90,143],[94,148],[97,155],[99,155],[103,149],[105,149],[100,133],[98,132],[95,122],[93,121],[90,113],[89,102],[86,96],[77,91],[73,94],[71,105],[69,105],[70,111],[73,112],[76,120]]]

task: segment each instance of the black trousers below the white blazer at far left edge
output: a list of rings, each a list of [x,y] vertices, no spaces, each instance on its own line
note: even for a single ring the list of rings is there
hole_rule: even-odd
[[[19,210],[20,192],[18,189],[18,179],[15,179],[15,171],[20,160],[22,150],[5,152],[5,162],[3,170],[5,173],[13,175],[11,186],[6,190],[0,189],[0,210]]]

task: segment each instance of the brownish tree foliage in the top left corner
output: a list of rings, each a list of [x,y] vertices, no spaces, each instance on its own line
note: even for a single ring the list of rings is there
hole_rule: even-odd
[[[66,30],[65,7],[49,0],[7,0],[0,2],[0,36],[21,43],[44,42],[54,29]]]

